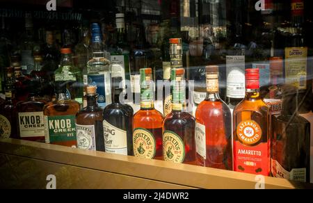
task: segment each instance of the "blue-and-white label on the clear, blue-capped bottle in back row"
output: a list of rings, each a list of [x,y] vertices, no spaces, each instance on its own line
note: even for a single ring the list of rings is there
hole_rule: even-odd
[[[101,108],[105,108],[112,103],[110,78],[110,74],[107,72],[88,74],[88,84],[90,86],[97,86],[97,102]]]

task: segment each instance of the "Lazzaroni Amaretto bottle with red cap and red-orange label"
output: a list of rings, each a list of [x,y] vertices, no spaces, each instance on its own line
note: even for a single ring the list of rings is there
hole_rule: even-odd
[[[271,172],[268,106],[259,96],[259,69],[246,70],[246,97],[234,108],[234,171]]]

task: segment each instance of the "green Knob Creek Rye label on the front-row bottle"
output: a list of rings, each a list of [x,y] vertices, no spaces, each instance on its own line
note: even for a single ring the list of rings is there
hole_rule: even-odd
[[[44,116],[44,120],[46,143],[56,145],[65,145],[72,141],[77,143],[75,115]]]

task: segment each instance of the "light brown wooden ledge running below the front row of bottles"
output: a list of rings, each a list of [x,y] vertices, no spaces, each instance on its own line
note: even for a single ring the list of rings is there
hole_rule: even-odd
[[[3,188],[46,188],[56,176],[57,188],[252,188],[255,175],[194,165],[139,159],[70,147],[0,139]],[[313,188],[264,177],[265,188]]]

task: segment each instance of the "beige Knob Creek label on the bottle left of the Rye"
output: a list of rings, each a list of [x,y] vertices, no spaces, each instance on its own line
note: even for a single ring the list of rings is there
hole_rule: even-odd
[[[43,112],[19,113],[19,135],[21,138],[44,137]]]

